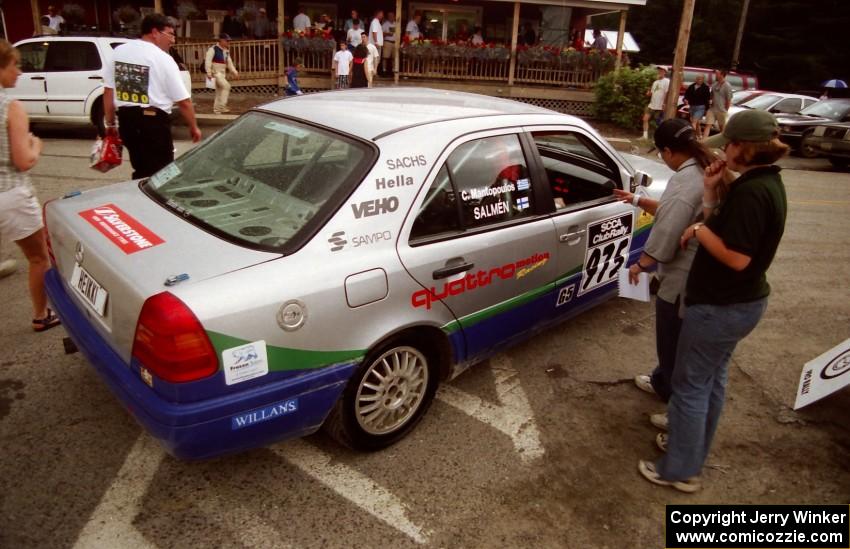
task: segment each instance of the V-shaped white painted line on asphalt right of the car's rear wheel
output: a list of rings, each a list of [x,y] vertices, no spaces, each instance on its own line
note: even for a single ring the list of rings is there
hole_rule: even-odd
[[[491,359],[490,365],[501,405],[486,402],[449,384],[440,387],[437,398],[506,434],[524,462],[542,457],[545,450],[534,422],[534,412],[511,359],[499,354]]]

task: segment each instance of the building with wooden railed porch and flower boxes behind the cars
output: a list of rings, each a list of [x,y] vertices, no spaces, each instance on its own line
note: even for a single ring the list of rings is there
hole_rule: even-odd
[[[401,14],[396,17],[396,43],[401,47],[392,58],[392,77],[379,79],[377,85],[471,91],[587,114],[595,81],[624,62],[628,10],[645,4],[646,0],[354,0],[341,4],[321,0],[30,0],[4,2],[0,9],[11,41],[32,36],[48,5],[64,11],[68,32],[133,32],[134,24],[148,12],[171,15],[179,21],[176,49],[199,93],[204,88],[204,52],[225,25],[228,29],[241,25],[242,36],[231,41],[240,70],[233,93],[269,94],[285,85],[283,70],[296,57],[304,60],[302,88],[332,86],[331,59],[339,32],[335,36],[315,27],[306,34],[294,33],[292,19],[299,9],[312,22],[327,15],[336,29],[343,28],[351,9],[366,20],[382,9]],[[273,22],[273,38],[253,36],[261,8]],[[620,25],[619,32],[607,34],[610,49],[589,48],[585,33],[591,17],[611,12],[619,12]],[[408,41],[404,29],[413,14],[421,16],[422,37]],[[234,21],[238,22],[235,27]],[[472,45],[468,39],[476,27],[484,43]]]

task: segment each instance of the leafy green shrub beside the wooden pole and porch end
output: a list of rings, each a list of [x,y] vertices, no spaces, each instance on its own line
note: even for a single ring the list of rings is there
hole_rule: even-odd
[[[657,74],[653,67],[638,67],[622,68],[600,77],[593,88],[596,96],[594,116],[623,128],[639,129],[641,116],[649,103],[646,92]]]

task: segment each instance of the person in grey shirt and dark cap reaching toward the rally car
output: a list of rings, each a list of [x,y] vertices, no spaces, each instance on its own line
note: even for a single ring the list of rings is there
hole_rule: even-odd
[[[657,267],[655,349],[658,364],[650,375],[635,377],[635,384],[667,402],[672,392],[676,346],[682,327],[680,312],[684,310],[685,282],[697,249],[696,242],[680,249],[680,237],[687,227],[703,218],[703,170],[714,161],[714,156],[699,142],[697,132],[681,118],[662,122],[653,138],[658,155],[676,172],[667,182],[661,199],[619,189],[614,189],[614,194],[655,216],[643,253],[629,267],[629,281],[636,284],[640,273]],[[651,420],[656,426],[663,426],[667,418],[664,414],[655,414]]]

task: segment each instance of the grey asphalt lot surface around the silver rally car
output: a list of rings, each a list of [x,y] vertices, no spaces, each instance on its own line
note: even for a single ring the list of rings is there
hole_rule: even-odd
[[[42,200],[129,177],[88,169],[89,132],[38,131]],[[64,354],[61,328],[31,332],[19,270],[0,280],[0,547],[659,547],[667,503],[847,503],[850,389],[791,407],[802,365],[850,337],[850,173],[783,165],[770,306],[733,358],[698,494],[636,470],[662,409],[631,381],[654,364],[647,304],[609,301],[470,369],[385,451],[318,434],[187,463]]]

